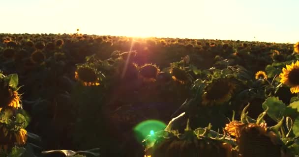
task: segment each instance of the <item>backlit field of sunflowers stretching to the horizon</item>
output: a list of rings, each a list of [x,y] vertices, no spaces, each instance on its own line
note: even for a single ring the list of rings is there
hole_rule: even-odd
[[[0,34],[0,157],[299,157],[299,43]]]

